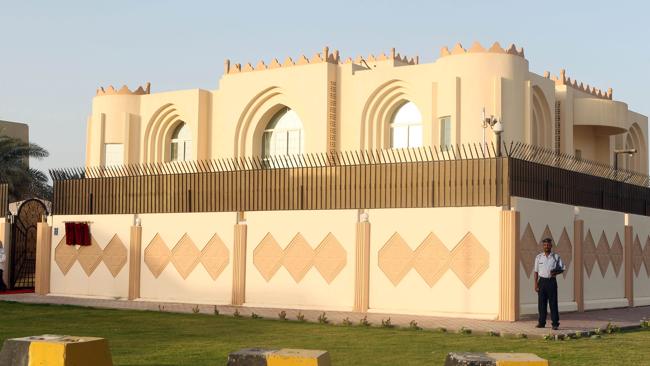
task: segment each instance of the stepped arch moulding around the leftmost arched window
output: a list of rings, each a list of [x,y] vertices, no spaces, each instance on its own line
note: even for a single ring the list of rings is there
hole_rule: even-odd
[[[154,112],[144,131],[142,161],[145,163],[163,162],[169,157],[169,141],[179,123],[187,123],[181,117],[178,107],[167,103]]]

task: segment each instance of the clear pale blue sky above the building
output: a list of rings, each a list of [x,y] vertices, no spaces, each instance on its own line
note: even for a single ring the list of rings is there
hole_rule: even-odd
[[[100,86],[214,90],[223,61],[342,58],[391,47],[433,62],[443,46],[523,46],[532,72],[606,90],[650,115],[650,3],[643,1],[0,0],[0,120],[29,124],[50,156],[82,166]]]

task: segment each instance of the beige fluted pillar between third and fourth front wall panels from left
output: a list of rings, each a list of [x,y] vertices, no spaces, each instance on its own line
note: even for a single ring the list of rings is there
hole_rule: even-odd
[[[367,312],[370,298],[370,223],[357,223],[354,311]]]

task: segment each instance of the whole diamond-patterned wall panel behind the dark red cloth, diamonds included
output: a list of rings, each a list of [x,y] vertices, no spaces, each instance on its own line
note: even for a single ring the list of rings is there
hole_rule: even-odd
[[[65,244],[65,222],[88,221],[86,247]],[[129,279],[129,230],[133,215],[54,216],[50,291],[60,295],[126,297]]]

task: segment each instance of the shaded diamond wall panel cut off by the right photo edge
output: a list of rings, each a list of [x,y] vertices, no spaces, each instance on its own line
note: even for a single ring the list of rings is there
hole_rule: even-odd
[[[650,305],[650,217],[630,215],[634,227],[632,244],[632,279],[634,305]]]

